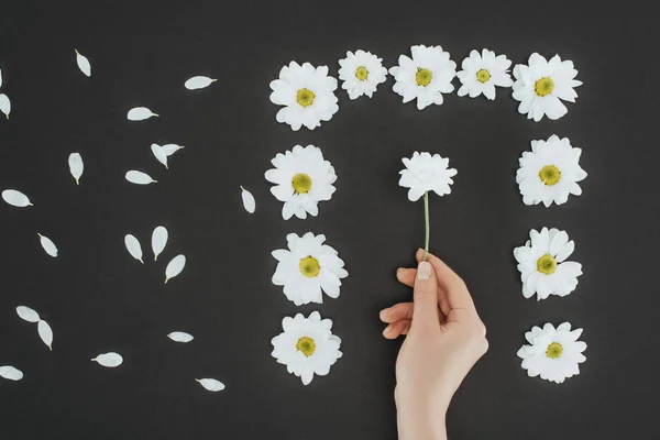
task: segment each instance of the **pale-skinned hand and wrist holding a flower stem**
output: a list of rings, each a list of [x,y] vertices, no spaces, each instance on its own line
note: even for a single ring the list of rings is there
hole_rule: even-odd
[[[381,311],[387,339],[406,336],[396,360],[395,403],[399,440],[446,440],[444,419],[452,396],[488,350],[486,328],[465,283],[431,254],[417,268],[399,268],[413,287],[413,302]]]

